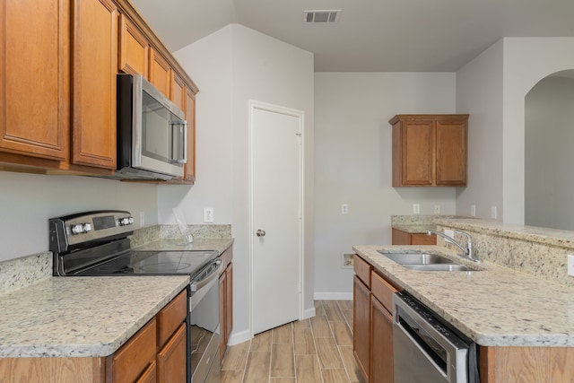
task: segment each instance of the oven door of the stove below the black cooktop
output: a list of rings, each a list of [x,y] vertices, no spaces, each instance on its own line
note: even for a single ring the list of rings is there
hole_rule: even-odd
[[[215,262],[217,267],[212,267],[204,279],[191,283],[189,324],[192,383],[219,381],[220,377],[218,281],[222,266],[221,261]]]

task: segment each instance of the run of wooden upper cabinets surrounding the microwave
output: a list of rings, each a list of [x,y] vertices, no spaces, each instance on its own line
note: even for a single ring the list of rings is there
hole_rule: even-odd
[[[33,11],[33,12],[32,12]],[[142,74],[186,113],[195,181],[196,84],[127,0],[2,0],[0,170],[111,175],[116,75]]]

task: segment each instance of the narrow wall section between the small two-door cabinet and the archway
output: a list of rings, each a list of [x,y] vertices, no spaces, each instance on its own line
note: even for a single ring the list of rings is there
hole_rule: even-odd
[[[458,188],[457,214],[491,219],[502,204],[502,40],[457,72],[457,113],[468,113],[467,186]]]

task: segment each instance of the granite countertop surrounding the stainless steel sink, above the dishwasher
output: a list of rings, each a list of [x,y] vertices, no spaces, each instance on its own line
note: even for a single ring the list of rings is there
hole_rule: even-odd
[[[477,266],[473,272],[421,272],[378,253],[401,246],[354,246],[380,274],[403,287],[477,344],[574,346],[574,289],[484,261],[474,265],[439,246],[410,246]]]

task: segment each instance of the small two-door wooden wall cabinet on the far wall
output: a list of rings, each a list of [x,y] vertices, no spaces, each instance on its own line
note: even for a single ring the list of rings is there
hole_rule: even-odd
[[[393,187],[466,185],[468,115],[396,115]]]

